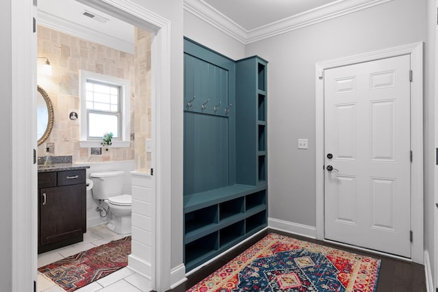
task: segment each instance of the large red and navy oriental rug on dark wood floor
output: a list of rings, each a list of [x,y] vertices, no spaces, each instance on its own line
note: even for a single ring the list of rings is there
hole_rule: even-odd
[[[270,233],[188,292],[374,292],[381,261]]]

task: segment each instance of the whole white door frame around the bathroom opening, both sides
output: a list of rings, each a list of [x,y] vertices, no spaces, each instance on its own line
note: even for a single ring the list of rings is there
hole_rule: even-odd
[[[164,203],[171,202],[171,149],[170,124],[171,92],[171,31],[170,21],[145,10],[132,1],[126,0],[90,0],[88,3],[117,8],[136,16],[155,29],[152,49],[153,81],[152,92],[155,109],[155,134],[153,149],[155,154],[155,174],[157,198],[157,216],[155,217],[155,254],[153,263],[152,286],[156,291],[165,291],[170,287],[170,213],[162,211]],[[34,1],[36,3],[36,1]],[[32,17],[36,18],[32,1],[11,1],[12,18],[12,292],[33,291],[36,280],[36,213],[37,213],[37,172],[31,163],[33,149],[36,149],[36,137],[32,131],[35,105],[29,103],[36,94],[36,42],[31,31]],[[117,10],[116,9],[116,10]],[[29,70],[29,64],[31,64]],[[23,183],[23,181],[31,183]],[[31,196],[35,194],[35,196]],[[154,281],[155,280],[155,281]]]

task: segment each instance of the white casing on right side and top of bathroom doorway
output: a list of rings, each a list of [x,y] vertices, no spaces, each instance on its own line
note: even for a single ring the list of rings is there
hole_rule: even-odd
[[[83,0],[81,0],[83,1]],[[168,205],[172,202],[172,189],[169,182],[172,181],[172,149],[171,149],[171,91],[169,84],[171,80],[171,23],[161,16],[145,10],[142,6],[130,0],[103,0],[112,5],[136,16],[155,27],[155,36],[151,44],[152,56],[152,116],[153,122],[153,155],[152,165],[155,169],[155,241],[153,242],[152,254],[152,289],[155,291],[167,291],[170,289],[170,262],[171,262],[171,213],[168,212]],[[89,3],[90,1],[87,1]]]

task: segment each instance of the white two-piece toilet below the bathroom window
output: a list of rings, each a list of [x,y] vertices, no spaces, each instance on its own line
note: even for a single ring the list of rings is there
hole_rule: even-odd
[[[90,178],[93,198],[108,204],[108,229],[120,235],[131,233],[132,197],[122,194],[125,172],[93,172]]]

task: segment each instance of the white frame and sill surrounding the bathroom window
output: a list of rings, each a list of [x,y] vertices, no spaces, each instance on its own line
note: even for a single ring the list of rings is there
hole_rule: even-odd
[[[112,147],[129,147],[131,145],[131,81],[118,77],[107,76],[87,70],[79,71],[81,113],[81,148],[102,147],[101,140],[88,139],[88,114],[86,107],[86,83],[88,80],[109,83],[120,86],[120,114],[122,115],[120,139],[112,141]],[[103,135],[103,133],[102,133]]]

